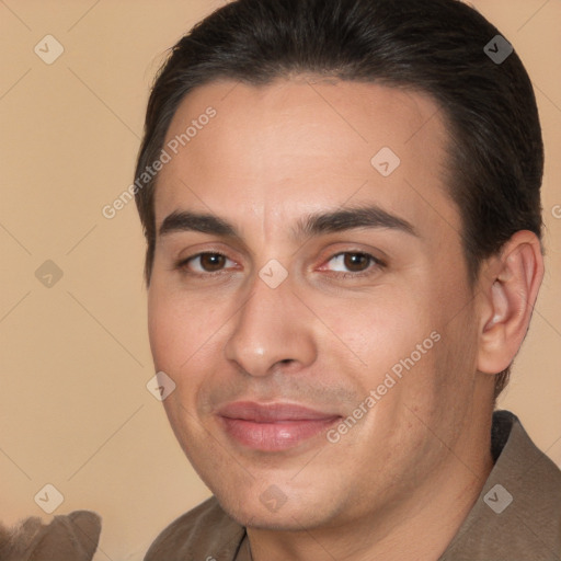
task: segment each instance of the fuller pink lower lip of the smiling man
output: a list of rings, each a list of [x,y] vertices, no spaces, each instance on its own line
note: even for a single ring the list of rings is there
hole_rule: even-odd
[[[305,419],[256,423],[243,419],[220,417],[226,432],[248,448],[263,451],[286,450],[317,436],[336,423],[340,417]]]

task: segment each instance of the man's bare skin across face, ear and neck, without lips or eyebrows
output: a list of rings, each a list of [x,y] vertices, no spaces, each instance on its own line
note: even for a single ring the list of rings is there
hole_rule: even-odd
[[[156,191],[157,228],[188,210],[238,232],[157,238],[150,343],[176,383],[164,407],[180,444],[248,527],[256,561],[437,559],[492,469],[493,374],[526,333],[542,274],[536,237],[518,232],[470,286],[446,125],[421,93],[313,77],[213,82],[186,96],[168,140],[208,105],[216,117]],[[401,160],[387,178],[370,164],[382,147]],[[415,233],[294,236],[309,215],[368,205]],[[273,259],[288,273],[276,288],[259,276]],[[336,443],[322,433],[254,450],[217,416],[244,400],[347,417],[431,333],[439,341]],[[270,485],[285,499],[276,512],[260,500]]]

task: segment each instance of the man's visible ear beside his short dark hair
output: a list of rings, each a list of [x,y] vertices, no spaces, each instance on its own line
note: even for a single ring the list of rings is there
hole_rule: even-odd
[[[499,374],[511,365],[526,336],[542,278],[540,242],[527,230],[516,232],[500,255],[485,262],[479,278],[479,371]]]

